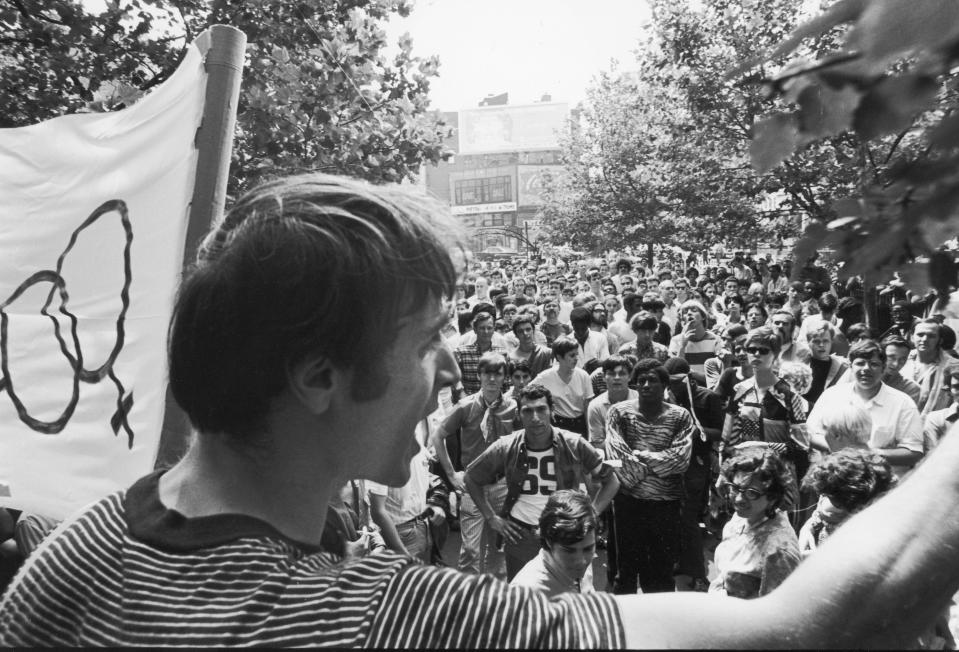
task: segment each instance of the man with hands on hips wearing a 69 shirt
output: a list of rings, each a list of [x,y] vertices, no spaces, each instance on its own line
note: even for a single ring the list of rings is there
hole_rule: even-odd
[[[520,392],[523,430],[504,437],[466,469],[466,488],[489,526],[505,539],[506,574],[512,579],[539,548],[536,524],[557,489],[576,489],[592,476],[601,484],[593,499],[597,513],[606,509],[619,488],[612,470],[578,434],[552,425],[553,397],[531,383]],[[495,510],[484,487],[506,479],[506,500]]]

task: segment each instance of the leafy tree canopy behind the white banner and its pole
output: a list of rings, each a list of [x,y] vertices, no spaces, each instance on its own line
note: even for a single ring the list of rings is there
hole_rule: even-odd
[[[13,0],[0,7],[0,126],[122,108],[162,83],[213,24],[247,35],[231,191],[324,171],[400,181],[447,155],[427,92],[436,57],[383,21],[407,0]]]

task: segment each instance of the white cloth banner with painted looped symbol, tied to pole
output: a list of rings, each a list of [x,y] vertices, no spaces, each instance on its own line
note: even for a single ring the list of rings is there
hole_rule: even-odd
[[[63,518],[153,468],[201,41],[122,111],[0,130],[0,505]]]

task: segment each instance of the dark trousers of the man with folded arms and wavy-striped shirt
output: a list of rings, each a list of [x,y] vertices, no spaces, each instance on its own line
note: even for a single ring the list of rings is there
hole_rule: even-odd
[[[613,514],[617,565],[613,593],[634,594],[637,585],[643,593],[675,591],[680,501],[640,500],[619,493],[613,499]]]

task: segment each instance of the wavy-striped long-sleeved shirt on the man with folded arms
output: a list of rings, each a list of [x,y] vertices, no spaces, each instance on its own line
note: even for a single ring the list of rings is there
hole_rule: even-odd
[[[638,400],[610,407],[606,457],[623,461],[616,470],[620,492],[641,500],[680,500],[695,433],[689,412],[676,405],[663,403],[663,411],[652,421],[639,411]],[[633,461],[633,451],[648,475]]]

